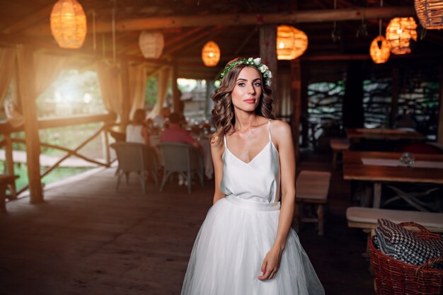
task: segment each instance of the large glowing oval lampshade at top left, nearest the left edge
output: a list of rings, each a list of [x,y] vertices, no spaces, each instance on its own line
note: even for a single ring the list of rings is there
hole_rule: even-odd
[[[59,0],[52,7],[51,32],[62,48],[80,48],[86,37],[86,16],[76,0]]]

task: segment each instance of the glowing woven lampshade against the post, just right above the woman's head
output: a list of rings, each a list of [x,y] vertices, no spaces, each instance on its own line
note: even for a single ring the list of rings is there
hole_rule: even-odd
[[[277,27],[277,59],[296,59],[308,48],[308,36],[290,25]]]

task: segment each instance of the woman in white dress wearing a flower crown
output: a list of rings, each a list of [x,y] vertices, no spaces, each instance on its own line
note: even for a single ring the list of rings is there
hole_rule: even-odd
[[[234,59],[214,92],[214,205],[197,235],[182,295],[324,294],[291,228],[294,146],[272,120],[270,79],[259,58]]]

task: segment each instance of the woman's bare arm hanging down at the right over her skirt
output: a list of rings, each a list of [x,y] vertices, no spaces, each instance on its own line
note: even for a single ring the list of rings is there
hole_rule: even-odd
[[[282,207],[274,245],[263,260],[262,273],[258,279],[273,279],[280,266],[280,258],[291,228],[295,204],[295,156],[291,127],[282,121],[272,121],[272,138],[280,155]]]

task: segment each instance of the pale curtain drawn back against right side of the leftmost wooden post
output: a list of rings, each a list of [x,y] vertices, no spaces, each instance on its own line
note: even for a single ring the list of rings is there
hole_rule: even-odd
[[[35,98],[38,98],[59,76],[66,62],[66,57],[34,53]]]

